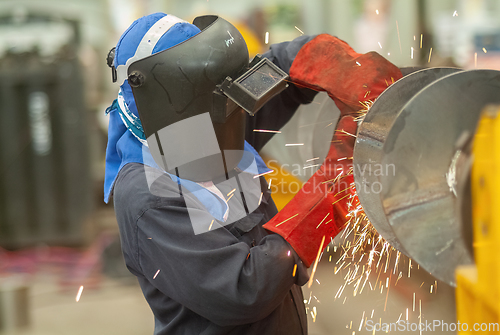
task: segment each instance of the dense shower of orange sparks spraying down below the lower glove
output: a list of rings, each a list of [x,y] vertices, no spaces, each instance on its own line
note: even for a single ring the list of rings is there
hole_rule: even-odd
[[[388,81],[387,86],[393,82],[394,81]],[[364,118],[366,112],[373,104],[373,101],[362,101],[360,103],[364,107],[364,110],[359,111],[359,116],[356,118],[357,120],[362,120]],[[355,135],[349,134],[343,130],[336,131],[338,132],[337,134],[344,133],[349,136],[356,137]],[[339,160],[349,162],[351,159],[352,157],[341,157]],[[333,181],[333,183],[335,183],[338,180],[352,174],[353,171],[351,169],[346,173],[339,174],[337,178],[328,182]],[[332,255],[328,255],[328,260],[333,263],[334,275],[341,276],[344,280],[344,282],[337,288],[334,300],[342,299],[342,304],[345,304],[348,300],[348,296],[351,294],[355,297],[366,291],[378,291],[385,295],[384,311],[386,311],[388,306],[390,306],[390,304],[388,304],[390,288],[396,286],[399,280],[404,281],[403,277],[406,277],[404,276],[406,271],[408,271],[408,277],[410,277],[412,261],[390,246],[389,243],[377,233],[359,203],[354,183],[352,183],[351,187],[348,189],[351,189],[351,192],[348,192],[348,195],[337,200],[340,201],[347,198],[348,214],[346,215],[347,222],[344,225],[345,228],[338,236],[340,240],[327,241],[327,244],[328,242],[331,242],[332,244],[331,248],[328,247],[325,249],[325,255],[330,251],[337,254],[333,260]],[[328,216],[323,217],[315,224],[319,227],[322,224],[324,225],[324,222],[328,221],[328,219]],[[314,281],[313,277],[316,272],[317,263],[323,255],[321,252],[323,249],[323,242],[320,250],[318,251],[316,262],[314,263],[315,265],[311,273],[309,286],[311,286]],[[406,270],[406,266],[408,266],[408,270]],[[396,277],[395,274],[398,274],[398,276]],[[432,290],[433,292],[436,291],[436,285],[434,285]],[[415,311],[415,308],[417,307],[415,294],[413,299],[413,309]],[[309,299],[309,303],[311,303],[311,298]],[[363,321],[366,322],[366,313],[364,313],[364,316],[360,321],[361,325],[363,324]],[[375,310],[372,310],[371,318],[373,318],[374,313]],[[311,308],[309,308],[308,314],[310,314],[310,316],[314,319],[317,318],[317,315],[311,312]],[[351,321],[350,327],[349,325],[346,327],[353,329],[356,326],[353,326]]]

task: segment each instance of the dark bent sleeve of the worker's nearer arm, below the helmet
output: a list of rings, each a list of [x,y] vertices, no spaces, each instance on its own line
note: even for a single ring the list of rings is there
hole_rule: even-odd
[[[279,235],[253,247],[225,228],[195,235],[193,214],[206,211],[188,213],[163,199],[137,220],[141,273],[171,299],[218,325],[234,326],[265,318],[292,285],[307,282],[306,268]]]

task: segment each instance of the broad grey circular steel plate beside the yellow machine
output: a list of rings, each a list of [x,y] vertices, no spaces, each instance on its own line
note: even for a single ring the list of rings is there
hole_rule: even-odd
[[[457,143],[473,134],[482,109],[500,103],[500,72],[463,71],[417,93],[387,134],[380,176],[385,217],[407,254],[436,278],[455,283],[455,268],[472,259],[457,219],[453,171]]]

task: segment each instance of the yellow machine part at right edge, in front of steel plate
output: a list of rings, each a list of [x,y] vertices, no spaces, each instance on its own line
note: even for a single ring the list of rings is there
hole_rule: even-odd
[[[482,113],[474,137],[472,226],[474,265],[457,269],[457,319],[468,325],[459,334],[500,333],[500,106]],[[474,327],[476,329],[474,329]]]

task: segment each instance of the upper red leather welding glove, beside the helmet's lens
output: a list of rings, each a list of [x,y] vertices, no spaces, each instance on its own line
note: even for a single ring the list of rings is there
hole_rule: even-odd
[[[374,101],[401,77],[399,68],[378,53],[358,54],[328,34],[306,43],[290,68],[295,84],[326,91],[342,115],[364,109],[361,101]]]

